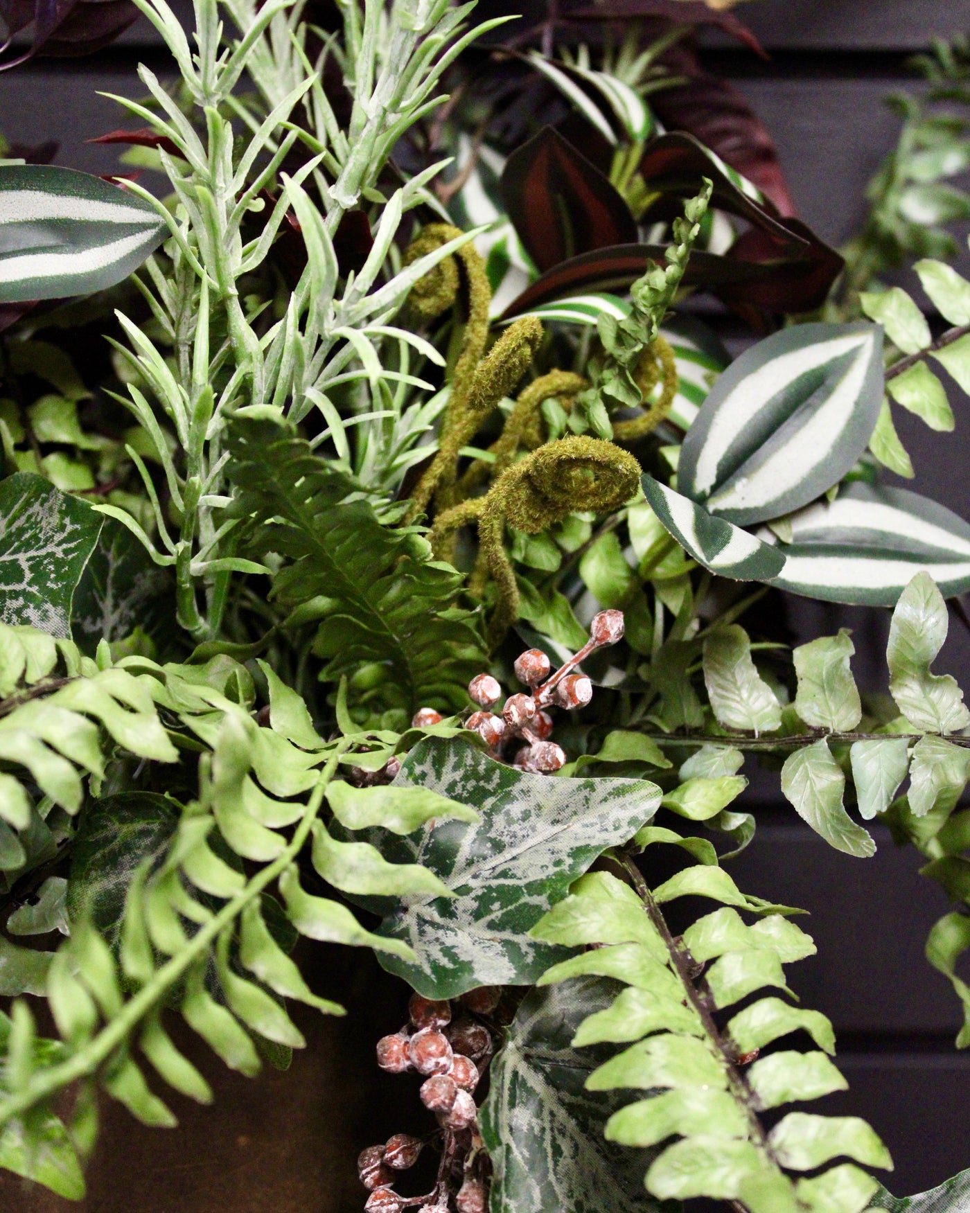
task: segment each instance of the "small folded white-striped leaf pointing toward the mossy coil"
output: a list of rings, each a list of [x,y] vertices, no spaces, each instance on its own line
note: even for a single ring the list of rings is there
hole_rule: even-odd
[[[696,502],[644,474],[643,486],[657,518],[690,556],[712,573],[735,581],[770,581],[784,557],[770,543],[714,518]]]

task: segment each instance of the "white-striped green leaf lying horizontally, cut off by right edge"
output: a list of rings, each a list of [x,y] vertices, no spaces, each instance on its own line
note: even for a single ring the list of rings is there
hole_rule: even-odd
[[[943,596],[970,590],[970,525],[945,506],[907,489],[856,482],[833,502],[791,518],[792,542],[768,528],[784,566],[772,585],[824,602],[894,606],[917,573]]]

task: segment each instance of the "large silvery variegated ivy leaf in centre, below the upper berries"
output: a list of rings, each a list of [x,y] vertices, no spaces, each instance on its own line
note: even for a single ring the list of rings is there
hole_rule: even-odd
[[[355,899],[384,915],[381,934],[413,947],[416,963],[380,959],[428,998],[455,998],[480,985],[527,985],[561,959],[563,949],[527,932],[660,804],[660,790],[646,780],[529,775],[439,738],[410,752],[392,787],[439,792],[480,814],[474,824],[432,821],[407,837],[364,835],[390,862],[423,864],[453,894]]]

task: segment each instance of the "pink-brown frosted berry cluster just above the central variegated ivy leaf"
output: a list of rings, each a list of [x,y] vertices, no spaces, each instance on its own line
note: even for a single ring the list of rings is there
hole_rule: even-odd
[[[477,674],[468,684],[468,695],[480,711],[473,712],[464,727],[478,733],[497,758],[512,762],[520,770],[554,774],[565,765],[566,756],[561,746],[549,740],[553,718],[547,708],[571,712],[586,707],[593,697],[593,684],[584,673],[575,672],[577,666],[597,649],[616,644],[622,636],[623,611],[601,610],[593,617],[587,643],[559,670],[553,672],[542,649],[526,649],[513,668],[529,690],[509,695],[501,713],[489,711],[502,696],[497,679]]]

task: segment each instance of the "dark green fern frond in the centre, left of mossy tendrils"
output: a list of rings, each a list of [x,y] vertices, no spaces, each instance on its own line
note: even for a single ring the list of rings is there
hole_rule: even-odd
[[[466,707],[485,655],[470,614],[452,606],[461,576],[413,530],[392,530],[367,502],[344,501],[353,482],[292,432],[240,420],[230,450],[233,508],[253,528],[252,551],[286,562],[272,597],[290,608],[325,604],[314,644],[325,677],[380,662],[383,697],[375,688],[370,700],[393,707],[403,727],[420,707]]]

